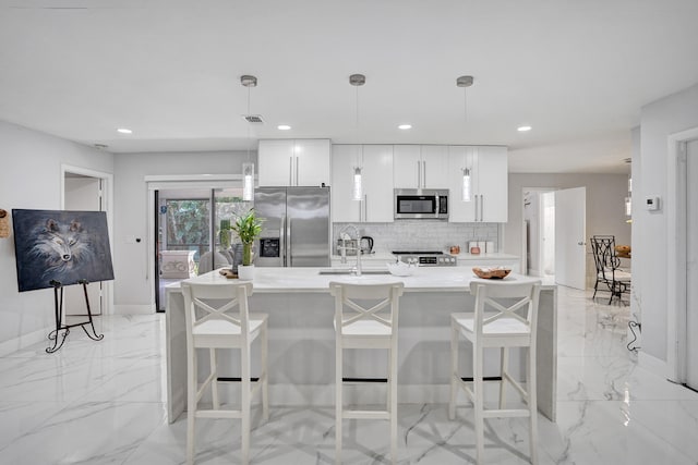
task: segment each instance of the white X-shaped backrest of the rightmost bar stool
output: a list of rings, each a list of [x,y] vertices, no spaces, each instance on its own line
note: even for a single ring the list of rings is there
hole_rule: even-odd
[[[482,334],[488,325],[502,318],[514,318],[526,325],[531,338],[535,338],[540,289],[540,281],[471,282],[470,293],[476,295],[473,331]]]

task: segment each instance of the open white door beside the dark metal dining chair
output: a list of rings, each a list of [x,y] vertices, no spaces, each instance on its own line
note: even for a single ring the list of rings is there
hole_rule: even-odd
[[[587,188],[555,191],[555,283],[585,290]]]

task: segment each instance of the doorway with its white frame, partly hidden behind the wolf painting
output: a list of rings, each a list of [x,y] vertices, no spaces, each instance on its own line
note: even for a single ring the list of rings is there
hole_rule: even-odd
[[[61,167],[61,209],[75,211],[105,211],[111,237],[109,198],[112,175],[79,167]],[[106,281],[87,284],[87,298],[93,315],[109,313],[111,283]],[[87,315],[82,285],[63,289],[63,308],[67,316]]]

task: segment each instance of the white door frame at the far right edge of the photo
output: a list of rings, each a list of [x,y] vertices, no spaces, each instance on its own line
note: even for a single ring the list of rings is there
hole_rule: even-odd
[[[666,367],[669,378],[678,383],[687,379],[687,308],[686,308],[686,143],[698,139],[698,127],[667,137],[669,157],[666,161]],[[673,188],[672,188],[673,186]]]

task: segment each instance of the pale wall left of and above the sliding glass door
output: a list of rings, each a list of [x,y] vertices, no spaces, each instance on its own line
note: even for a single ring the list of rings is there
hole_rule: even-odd
[[[148,269],[146,175],[239,174],[246,151],[119,154],[115,156],[115,306],[117,311],[152,307]],[[256,162],[256,154],[252,154]],[[140,243],[127,243],[127,236]],[[154,307],[153,307],[154,311]]]

